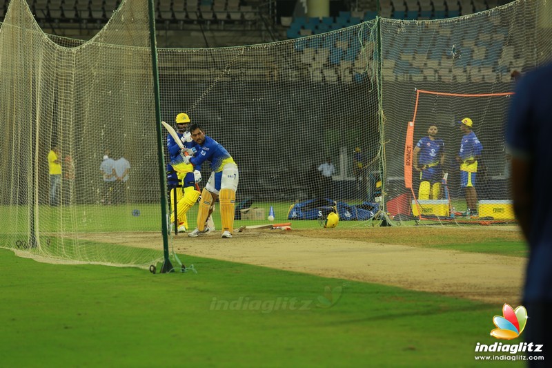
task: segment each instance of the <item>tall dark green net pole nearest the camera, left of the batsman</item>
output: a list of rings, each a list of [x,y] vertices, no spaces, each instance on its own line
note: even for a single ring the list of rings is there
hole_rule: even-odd
[[[161,193],[161,233],[163,234],[163,267],[161,273],[172,271],[168,254],[168,220],[167,220],[167,202],[166,202],[166,177],[165,162],[163,155],[163,139],[161,135],[161,99],[159,97],[159,70],[157,68],[157,44],[155,39],[155,10],[153,0],[148,0],[148,12],[150,23],[150,47],[151,47],[151,66],[153,75],[153,94],[155,99],[155,123],[157,132],[157,162],[159,164],[159,191]]]

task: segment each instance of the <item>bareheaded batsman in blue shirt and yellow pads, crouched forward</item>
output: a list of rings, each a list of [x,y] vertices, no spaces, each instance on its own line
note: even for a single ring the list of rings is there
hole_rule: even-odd
[[[188,236],[196,237],[203,233],[205,221],[213,212],[215,202],[219,199],[222,238],[232,238],[236,191],[239,181],[237,165],[221,144],[205,135],[204,129],[199,124],[192,124],[190,133],[197,144],[197,153],[195,153],[195,157],[186,156],[186,161],[194,166],[200,166],[205,161],[209,161],[213,172],[201,192],[197,229],[189,233]]]

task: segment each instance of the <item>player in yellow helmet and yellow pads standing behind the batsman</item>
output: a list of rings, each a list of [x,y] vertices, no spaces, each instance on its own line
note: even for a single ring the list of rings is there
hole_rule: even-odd
[[[181,142],[186,147],[186,150],[191,150],[195,146],[195,142],[190,135],[190,132],[186,131],[186,128],[190,124],[190,117],[186,113],[179,113],[175,118],[177,126],[177,135],[180,137]],[[188,231],[188,219],[186,213],[193,207],[197,199],[199,198],[199,191],[195,188],[195,184],[201,181],[201,173],[194,170],[193,164],[184,161],[184,152],[182,152],[180,146],[175,142],[172,135],[167,135],[167,148],[170,154],[170,166],[168,171],[174,170],[178,177],[178,182],[182,184],[182,188],[172,188],[170,191],[170,197],[173,198],[173,192],[177,191],[177,218],[179,220],[178,231],[184,233]],[[191,153],[191,151],[190,151]],[[175,213],[170,215],[170,223],[175,222]],[[213,231],[213,224],[211,221],[210,226],[204,228],[205,233]]]

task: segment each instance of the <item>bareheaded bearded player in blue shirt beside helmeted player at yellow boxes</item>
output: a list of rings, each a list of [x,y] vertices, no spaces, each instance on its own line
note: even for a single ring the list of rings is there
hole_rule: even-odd
[[[443,139],[436,138],[438,131],[437,126],[430,126],[427,130],[428,135],[422,137],[414,147],[414,168],[420,172],[418,200],[438,200],[440,197],[444,142]]]

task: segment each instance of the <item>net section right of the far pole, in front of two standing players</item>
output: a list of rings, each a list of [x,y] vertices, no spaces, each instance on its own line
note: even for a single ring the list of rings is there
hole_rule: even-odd
[[[392,215],[411,215],[426,223],[514,220],[504,147],[504,122],[515,84],[511,74],[551,60],[551,10],[546,1],[516,1],[453,19],[380,20],[386,203]],[[483,148],[474,173],[477,202],[471,214],[466,213],[456,161],[464,135],[457,122],[464,117],[472,120]],[[448,173],[449,195],[442,184],[439,197],[418,200],[424,180],[413,168],[412,153],[430,126],[437,127],[436,138],[444,142],[438,179]]]

